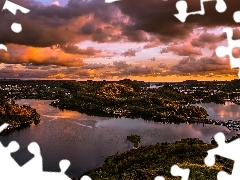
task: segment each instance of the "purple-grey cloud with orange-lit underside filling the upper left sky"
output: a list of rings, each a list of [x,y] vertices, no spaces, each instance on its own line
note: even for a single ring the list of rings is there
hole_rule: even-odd
[[[106,4],[103,0],[80,1],[70,0],[66,7],[43,6],[34,1],[15,0],[19,5],[30,9],[28,14],[18,12],[16,16],[4,11],[0,22],[0,42],[3,44],[15,43],[35,47],[48,47],[56,44],[77,43],[86,39],[85,35],[94,35],[95,41],[107,41],[106,28],[93,29],[87,25],[84,16],[92,16],[92,24],[103,23],[111,25],[112,15],[116,7]],[[81,19],[83,18],[83,19]],[[19,22],[23,26],[21,33],[16,34],[10,27],[13,22]],[[119,21],[120,22],[120,21]],[[78,26],[79,25],[79,26]],[[92,29],[91,29],[92,28]],[[79,33],[82,29],[82,33]],[[92,33],[94,31],[94,33]],[[81,32],[81,31],[80,31]],[[88,37],[89,38],[89,37]]]

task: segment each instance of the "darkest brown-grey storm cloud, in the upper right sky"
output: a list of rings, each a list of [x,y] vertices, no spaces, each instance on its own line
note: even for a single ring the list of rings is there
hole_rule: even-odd
[[[185,23],[173,16],[177,13],[176,2],[177,0],[122,0],[116,4],[133,22],[126,29],[153,33],[164,42],[184,39],[195,27],[238,26],[233,21],[233,13],[240,10],[237,0],[226,1],[227,10],[224,13],[216,11],[216,1],[205,2],[205,15],[189,16]],[[200,0],[187,0],[187,3],[188,12],[200,10]]]

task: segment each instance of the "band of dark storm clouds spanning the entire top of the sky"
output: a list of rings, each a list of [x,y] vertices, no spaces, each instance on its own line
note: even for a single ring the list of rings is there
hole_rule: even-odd
[[[145,42],[149,40],[146,32],[162,42],[171,42],[173,39],[185,39],[195,27],[237,26],[233,21],[233,13],[240,10],[237,0],[227,1],[227,11],[224,13],[215,10],[216,1],[205,2],[204,16],[189,16],[185,23],[181,23],[173,15],[177,13],[177,0],[121,0],[115,3],[70,0],[64,7],[44,6],[28,0],[12,1],[31,11],[28,14],[18,12],[16,16],[4,11],[0,22],[0,42],[35,47],[77,43],[86,39],[102,43],[119,41],[121,38]],[[1,6],[3,4],[0,3]],[[199,10],[200,0],[188,0],[188,5],[188,11]],[[129,17],[127,22],[119,12]],[[84,16],[91,18],[87,20]],[[10,30],[14,21],[23,25],[23,31],[19,34]],[[119,34],[113,33],[116,31]],[[193,44],[201,46],[199,42]]]

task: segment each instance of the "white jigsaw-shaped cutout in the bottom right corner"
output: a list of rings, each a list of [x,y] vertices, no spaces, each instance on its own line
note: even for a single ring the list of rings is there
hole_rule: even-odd
[[[207,166],[213,166],[215,164],[215,155],[225,157],[233,160],[232,174],[228,174],[224,171],[220,171],[217,175],[218,180],[238,180],[240,177],[240,139],[236,139],[230,143],[225,142],[225,136],[223,133],[218,133],[214,136],[215,141],[218,143],[218,147],[208,150],[208,155],[204,159]]]

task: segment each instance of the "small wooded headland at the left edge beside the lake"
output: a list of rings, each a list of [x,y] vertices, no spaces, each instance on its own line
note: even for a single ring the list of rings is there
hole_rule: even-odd
[[[40,115],[30,106],[19,106],[13,100],[7,101],[0,92],[0,125],[8,123],[9,126],[1,134],[7,134],[16,129],[29,127],[32,123],[38,124]]]

